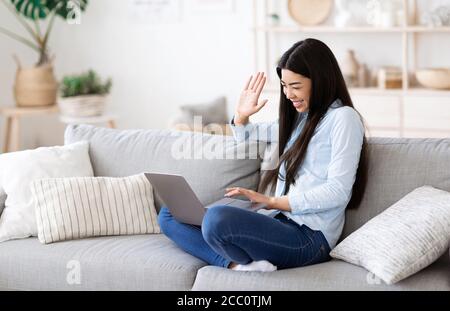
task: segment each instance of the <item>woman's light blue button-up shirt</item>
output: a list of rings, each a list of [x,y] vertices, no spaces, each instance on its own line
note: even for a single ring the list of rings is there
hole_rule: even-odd
[[[299,113],[297,125],[286,144],[292,146],[300,135],[308,113]],[[278,121],[248,123],[245,126],[231,124],[238,142],[249,140],[278,141]],[[303,164],[298,169],[295,185],[287,193],[290,212],[282,213],[299,225],[305,224],[320,230],[334,248],[342,233],[345,208],[350,201],[356,178],[364,137],[364,126],[359,114],[351,107],[334,101],[317,125],[309,143]],[[280,167],[275,196],[283,195],[286,174]],[[272,213],[275,216],[276,213]]]

